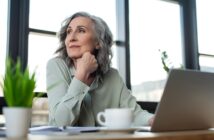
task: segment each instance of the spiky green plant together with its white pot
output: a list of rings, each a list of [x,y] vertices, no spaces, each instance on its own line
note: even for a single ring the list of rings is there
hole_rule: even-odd
[[[26,137],[31,123],[32,104],[35,97],[35,72],[21,68],[21,62],[6,60],[6,71],[1,83],[7,107],[3,108],[7,137]]]

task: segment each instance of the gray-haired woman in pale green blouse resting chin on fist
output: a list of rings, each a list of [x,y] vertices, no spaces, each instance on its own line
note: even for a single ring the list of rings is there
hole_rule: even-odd
[[[101,18],[78,12],[59,32],[57,57],[47,64],[49,124],[99,126],[96,115],[106,108],[132,108],[135,125],[151,124],[117,70],[110,67],[113,42]]]

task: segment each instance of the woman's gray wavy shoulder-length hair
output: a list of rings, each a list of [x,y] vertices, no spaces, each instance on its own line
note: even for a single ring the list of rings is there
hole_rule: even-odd
[[[98,69],[96,73],[103,75],[110,69],[112,59],[111,46],[113,45],[113,36],[106,22],[99,17],[90,15],[86,12],[77,12],[69,18],[65,19],[58,33],[60,45],[59,48],[56,50],[56,53],[58,53],[59,57],[63,58],[69,66],[73,66],[73,61],[68,57],[66,51],[65,39],[67,36],[66,30],[68,28],[68,25],[76,17],[89,18],[94,24],[95,38],[100,46],[99,49],[95,50],[95,57],[98,63]]]

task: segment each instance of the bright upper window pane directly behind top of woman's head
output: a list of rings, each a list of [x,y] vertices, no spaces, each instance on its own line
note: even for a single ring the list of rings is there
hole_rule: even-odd
[[[102,17],[115,33],[115,3],[115,0],[31,0],[29,26],[57,32],[66,17],[86,11]]]

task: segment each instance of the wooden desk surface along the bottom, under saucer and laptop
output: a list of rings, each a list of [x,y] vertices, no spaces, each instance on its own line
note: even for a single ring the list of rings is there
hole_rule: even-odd
[[[137,132],[134,134],[122,133],[82,133],[70,136],[29,135],[26,140],[213,140],[214,130],[183,131],[183,132]],[[5,140],[5,138],[0,138]]]

